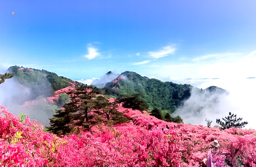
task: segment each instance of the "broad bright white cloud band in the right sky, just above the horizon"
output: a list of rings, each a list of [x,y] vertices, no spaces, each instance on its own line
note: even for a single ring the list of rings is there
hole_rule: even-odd
[[[248,58],[244,59],[247,55]],[[248,56],[249,55],[249,56]],[[144,70],[148,76],[154,75],[160,80],[180,80],[184,78],[248,78],[256,77],[256,54],[230,52],[206,54],[182,61],[155,61]],[[193,61],[192,61],[193,60]]]

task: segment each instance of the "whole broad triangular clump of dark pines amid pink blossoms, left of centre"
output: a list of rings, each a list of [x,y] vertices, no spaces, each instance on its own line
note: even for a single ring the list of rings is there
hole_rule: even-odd
[[[63,105],[64,110],[56,110],[47,129],[54,134],[65,135],[90,131],[92,126],[101,123],[109,125],[129,121],[116,110],[116,104],[99,93],[96,87],[77,85],[75,91],[69,93],[70,103]]]

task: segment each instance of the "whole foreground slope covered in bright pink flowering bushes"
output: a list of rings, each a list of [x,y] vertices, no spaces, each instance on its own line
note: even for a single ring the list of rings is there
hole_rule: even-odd
[[[153,167],[199,166],[213,140],[216,166],[255,166],[255,130],[220,131],[202,125],[169,123],[140,111],[118,110],[133,120],[92,132],[55,136],[28,118],[24,123],[0,106],[0,166]]]

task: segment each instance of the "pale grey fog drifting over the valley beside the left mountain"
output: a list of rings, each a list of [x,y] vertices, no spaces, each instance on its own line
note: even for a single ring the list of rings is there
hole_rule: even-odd
[[[5,71],[2,70],[1,74],[3,73]],[[45,89],[50,90],[51,88]],[[28,114],[30,119],[36,119],[44,126],[49,125],[48,118],[51,118],[57,109],[45,97],[32,94],[31,88],[20,85],[15,77],[6,79],[0,85],[0,104],[7,107],[9,112],[16,116],[19,113]]]

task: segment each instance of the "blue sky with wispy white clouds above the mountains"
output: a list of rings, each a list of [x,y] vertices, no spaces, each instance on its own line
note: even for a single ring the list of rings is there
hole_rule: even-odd
[[[0,67],[73,79],[256,77],[255,9],[255,0],[1,0]]]

